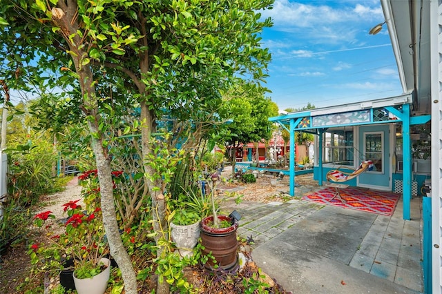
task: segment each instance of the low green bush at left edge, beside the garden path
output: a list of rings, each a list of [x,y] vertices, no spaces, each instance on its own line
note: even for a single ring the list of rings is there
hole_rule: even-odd
[[[30,210],[23,208],[16,199],[10,199],[3,205],[3,217],[0,217],[0,256],[8,248],[26,239],[31,223]],[[1,208],[0,208],[1,209]]]

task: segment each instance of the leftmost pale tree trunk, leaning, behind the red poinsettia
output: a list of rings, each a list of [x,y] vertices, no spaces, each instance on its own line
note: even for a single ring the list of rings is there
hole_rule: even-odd
[[[115,258],[122,273],[125,293],[137,294],[137,277],[133,270],[131,258],[126,248],[124,248],[119,235],[113,197],[111,160],[106,155],[107,149],[102,144],[103,134],[98,129],[100,117],[93,72],[90,64],[83,62],[83,58],[88,57],[88,52],[86,52],[88,46],[82,42],[84,39],[80,38],[77,32],[77,29],[81,27],[77,18],[77,2],[73,0],[59,0],[57,6],[58,8],[52,8],[52,19],[55,25],[61,29],[61,36],[64,37],[70,48],[70,56],[75,64],[81,97],[85,106],[84,112],[86,115],[93,117],[92,120],[88,119],[89,130],[91,134],[98,138],[96,139],[92,136],[92,148],[98,170],[104,230],[106,231],[111,255]]]

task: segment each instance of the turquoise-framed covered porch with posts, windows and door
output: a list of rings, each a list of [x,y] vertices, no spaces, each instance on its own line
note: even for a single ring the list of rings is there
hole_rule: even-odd
[[[410,219],[410,199],[430,182],[430,115],[413,110],[412,94],[354,104],[291,112],[271,117],[295,132],[316,135],[314,179],[327,184],[330,170],[351,172],[362,161],[373,168],[345,184],[403,195],[403,218]],[[290,146],[290,195],[296,183],[294,146]]]

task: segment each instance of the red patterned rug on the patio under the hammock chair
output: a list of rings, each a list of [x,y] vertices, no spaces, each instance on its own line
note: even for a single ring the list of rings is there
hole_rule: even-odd
[[[349,187],[339,189],[340,197],[346,201],[343,203],[338,197],[332,199],[334,193],[334,188],[327,187],[315,193],[305,195],[302,197],[302,200],[356,209],[366,211],[367,213],[377,213],[378,215],[392,216],[398,199],[401,197],[401,194],[392,192]],[[332,201],[330,201],[330,199],[332,199]]]

